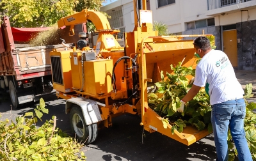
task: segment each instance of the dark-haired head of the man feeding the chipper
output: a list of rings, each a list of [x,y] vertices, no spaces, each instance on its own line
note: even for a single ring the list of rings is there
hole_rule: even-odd
[[[205,36],[199,36],[193,42],[195,52],[199,57],[203,57],[211,50],[210,40]]]

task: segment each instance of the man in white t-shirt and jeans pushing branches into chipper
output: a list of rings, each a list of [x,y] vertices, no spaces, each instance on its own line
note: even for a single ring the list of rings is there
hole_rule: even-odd
[[[252,155],[244,132],[244,91],[234,69],[224,52],[211,49],[210,41],[205,36],[196,38],[193,44],[196,54],[202,59],[196,66],[193,86],[180,101],[182,104],[177,111],[183,112],[186,102],[208,83],[217,160],[228,160],[227,135],[230,128],[239,160],[250,161]]]

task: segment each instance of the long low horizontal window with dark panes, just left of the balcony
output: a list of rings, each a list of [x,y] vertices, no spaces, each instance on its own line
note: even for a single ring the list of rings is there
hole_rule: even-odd
[[[188,29],[198,29],[198,28],[207,27],[207,26],[215,26],[215,21],[214,21],[214,18],[196,20],[193,22],[188,22],[187,26],[188,26]]]

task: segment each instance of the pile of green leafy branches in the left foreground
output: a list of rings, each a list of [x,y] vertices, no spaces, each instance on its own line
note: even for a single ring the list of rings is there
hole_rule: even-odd
[[[43,113],[48,109],[41,98],[35,114],[26,112],[15,122],[0,121],[0,160],[85,160],[83,152],[78,155],[83,144],[56,128],[56,116],[36,127]]]

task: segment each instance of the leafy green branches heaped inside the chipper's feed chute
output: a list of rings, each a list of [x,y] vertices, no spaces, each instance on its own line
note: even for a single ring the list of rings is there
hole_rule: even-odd
[[[164,124],[172,125],[172,132],[174,130],[182,132],[187,124],[195,126],[198,130],[208,128],[211,132],[211,106],[209,96],[204,89],[201,89],[193,100],[187,102],[184,112],[177,112],[180,100],[193,84],[193,81],[189,81],[187,77],[195,77],[195,69],[191,66],[181,66],[181,63],[175,67],[171,65],[171,69],[173,73],[166,72],[166,78],[161,71],[161,81],[155,84],[157,91],[148,93],[149,107],[163,118]]]

